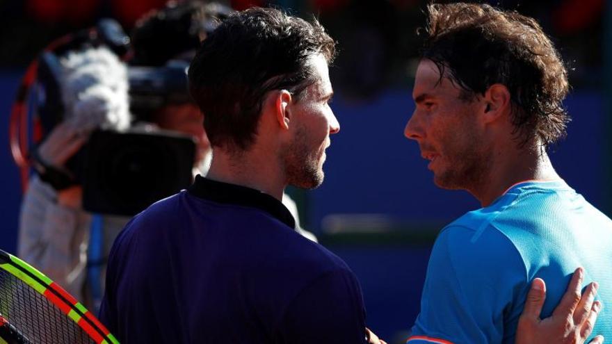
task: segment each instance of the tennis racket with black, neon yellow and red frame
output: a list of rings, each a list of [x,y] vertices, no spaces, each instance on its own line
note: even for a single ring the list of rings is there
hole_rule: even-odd
[[[22,343],[119,342],[58,284],[0,249],[0,344]]]

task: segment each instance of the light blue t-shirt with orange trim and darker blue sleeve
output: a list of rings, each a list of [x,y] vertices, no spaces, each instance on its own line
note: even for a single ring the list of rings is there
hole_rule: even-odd
[[[579,266],[604,304],[591,337],[612,338],[612,221],[564,181],[518,183],[442,230],[408,344],[514,343],[531,281],[546,282],[545,318]]]

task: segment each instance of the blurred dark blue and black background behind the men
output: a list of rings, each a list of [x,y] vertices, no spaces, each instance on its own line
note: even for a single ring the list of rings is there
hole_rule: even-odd
[[[163,0],[0,1],[0,248],[15,253],[22,189],[10,156],[8,122],[26,66],[55,38],[102,17],[125,30]],[[415,142],[403,137],[414,105],[417,28],[423,0],[232,0],[240,10],[273,5],[318,18],[339,44],[331,69],[332,108],[341,124],[332,137],[325,183],[289,190],[303,227],[341,256],[359,277],[368,324],[389,343],[403,343],[419,311],[430,247],[444,224],[478,208],[470,195],[440,190]],[[612,9],[604,0],[490,1],[536,17],[570,68],[567,139],[552,147],[559,174],[612,215],[609,120]],[[163,49],[163,47],[160,47]]]

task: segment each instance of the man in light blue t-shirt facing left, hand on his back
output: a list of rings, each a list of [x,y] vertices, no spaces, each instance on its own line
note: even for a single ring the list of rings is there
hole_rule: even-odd
[[[546,151],[569,122],[558,52],[518,13],[465,3],[428,10],[405,136],[437,186],[467,190],[483,208],[437,238],[408,343],[514,343],[531,281],[547,281],[550,316],[578,266],[602,286],[588,286],[598,289],[593,335],[612,336],[601,307],[612,304],[612,221],[567,186]]]

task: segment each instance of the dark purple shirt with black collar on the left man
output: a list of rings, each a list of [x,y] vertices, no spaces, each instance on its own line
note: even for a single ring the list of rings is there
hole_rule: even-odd
[[[122,343],[364,343],[346,263],[257,190],[197,177],[113,245],[100,319]]]

